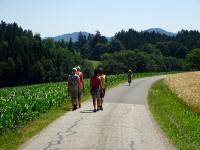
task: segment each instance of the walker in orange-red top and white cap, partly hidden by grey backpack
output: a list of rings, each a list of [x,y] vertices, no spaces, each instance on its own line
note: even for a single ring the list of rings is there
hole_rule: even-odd
[[[81,96],[82,96],[83,90],[84,90],[84,80],[83,80],[83,73],[81,72],[81,67],[77,66],[76,69],[77,69],[76,74],[80,77],[78,102],[79,102],[79,108],[81,108]]]

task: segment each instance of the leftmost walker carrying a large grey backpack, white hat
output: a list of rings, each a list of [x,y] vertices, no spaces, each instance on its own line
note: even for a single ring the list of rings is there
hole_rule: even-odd
[[[76,110],[79,104],[78,102],[78,92],[79,92],[79,82],[80,77],[76,74],[77,69],[72,69],[72,74],[68,77],[68,92],[72,100],[72,110]]]

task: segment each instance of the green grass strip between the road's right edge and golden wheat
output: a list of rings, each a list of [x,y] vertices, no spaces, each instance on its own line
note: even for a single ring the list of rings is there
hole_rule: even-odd
[[[148,104],[155,120],[180,150],[200,150],[200,113],[192,111],[163,82],[149,91]]]

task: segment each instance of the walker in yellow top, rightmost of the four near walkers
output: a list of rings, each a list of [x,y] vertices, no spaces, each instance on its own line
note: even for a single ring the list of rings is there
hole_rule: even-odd
[[[99,68],[99,78],[101,80],[101,89],[100,89],[100,101],[99,101],[99,109],[103,110],[103,98],[106,92],[107,85],[107,76],[103,74],[103,68]]]

